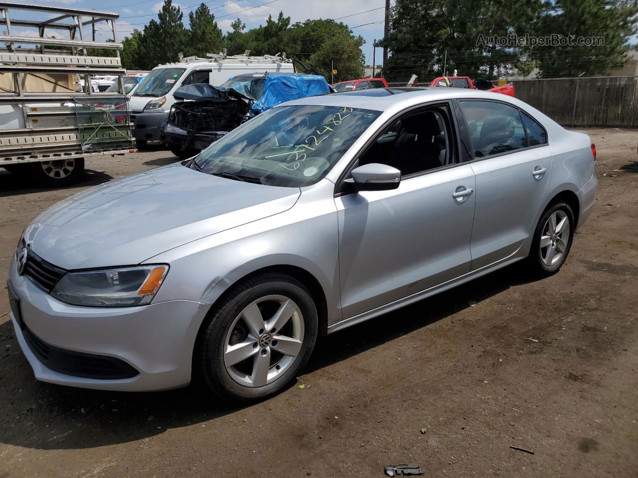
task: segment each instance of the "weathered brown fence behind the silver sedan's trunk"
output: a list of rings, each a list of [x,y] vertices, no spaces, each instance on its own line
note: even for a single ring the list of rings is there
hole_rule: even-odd
[[[562,126],[638,127],[638,76],[516,80],[516,98]]]

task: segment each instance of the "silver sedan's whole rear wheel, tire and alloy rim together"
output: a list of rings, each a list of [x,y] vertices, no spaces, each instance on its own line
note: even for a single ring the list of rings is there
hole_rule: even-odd
[[[574,239],[574,212],[567,203],[549,206],[540,217],[528,260],[535,272],[551,275],[567,259]]]

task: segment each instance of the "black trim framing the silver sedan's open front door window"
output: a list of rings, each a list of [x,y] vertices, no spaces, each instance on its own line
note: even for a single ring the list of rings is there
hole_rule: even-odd
[[[352,171],[352,169],[355,167],[355,164],[359,162],[360,157],[368,150],[368,148],[372,147],[372,145],[376,142],[378,137],[387,127],[389,127],[396,120],[401,119],[401,117],[404,117],[406,115],[418,114],[420,112],[425,112],[427,110],[431,110],[432,108],[436,108],[436,106],[447,106],[449,110],[448,116],[451,122],[450,126],[453,129],[451,133],[453,136],[456,137],[456,141],[450,141],[450,143],[452,143],[452,145],[454,146],[452,151],[452,154],[453,154],[452,159],[454,159],[455,161],[452,164],[447,164],[447,166],[441,166],[440,168],[432,168],[431,170],[420,171],[419,173],[412,173],[410,175],[401,176],[401,182],[403,182],[404,180],[417,178],[430,173],[438,173],[438,171],[445,171],[451,168],[456,168],[457,166],[462,166],[463,164],[467,164],[468,162],[461,161],[461,157],[460,157],[461,145],[459,144],[459,141],[460,141],[459,125],[457,124],[456,114],[454,112],[454,108],[452,107],[452,101],[453,99],[443,99],[443,100],[439,99],[439,100],[431,101],[429,103],[421,103],[420,105],[414,105],[410,108],[407,108],[406,110],[403,110],[397,113],[396,115],[391,117],[389,120],[387,120],[385,123],[383,123],[383,125],[379,129],[377,129],[376,134],[372,136],[372,138],[370,138],[367,141],[367,143],[359,149],[359,152],[357,152],[355,157],[353,157],[352,161],[350,161],[348,166],[346,166],[346,168],[343,168],[343,171],[341,171],[341,174],[339,175],[339,179],[334,185],[334,197],[339,198],[340,196],[345,196],[346,194],[353,194],[355,192],[355,191],[350,191],[346,189],[348,188],[348,183],[345,182],[345,178],[348,175],[348,173]]]

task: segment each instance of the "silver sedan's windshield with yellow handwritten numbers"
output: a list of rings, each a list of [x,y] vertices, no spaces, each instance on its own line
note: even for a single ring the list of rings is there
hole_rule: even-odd
[[[195,167],[267,185],[313,184],[379,115],[339,106],[272,108],[212,143]]]

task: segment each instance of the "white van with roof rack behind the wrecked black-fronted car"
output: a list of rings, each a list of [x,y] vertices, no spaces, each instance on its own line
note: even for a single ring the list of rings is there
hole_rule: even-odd
[[[128,106],[138,148],[144,148],[147,141],[159,140],[159,128],[168,119],[170,107],[175,103],[173,93],[182,85],[210,83],[219,86],[228,78],[255,71],[295,72],[292,60],[285,57],[208,56],[188,57],[179,62],[156,66],[137,85]]]

